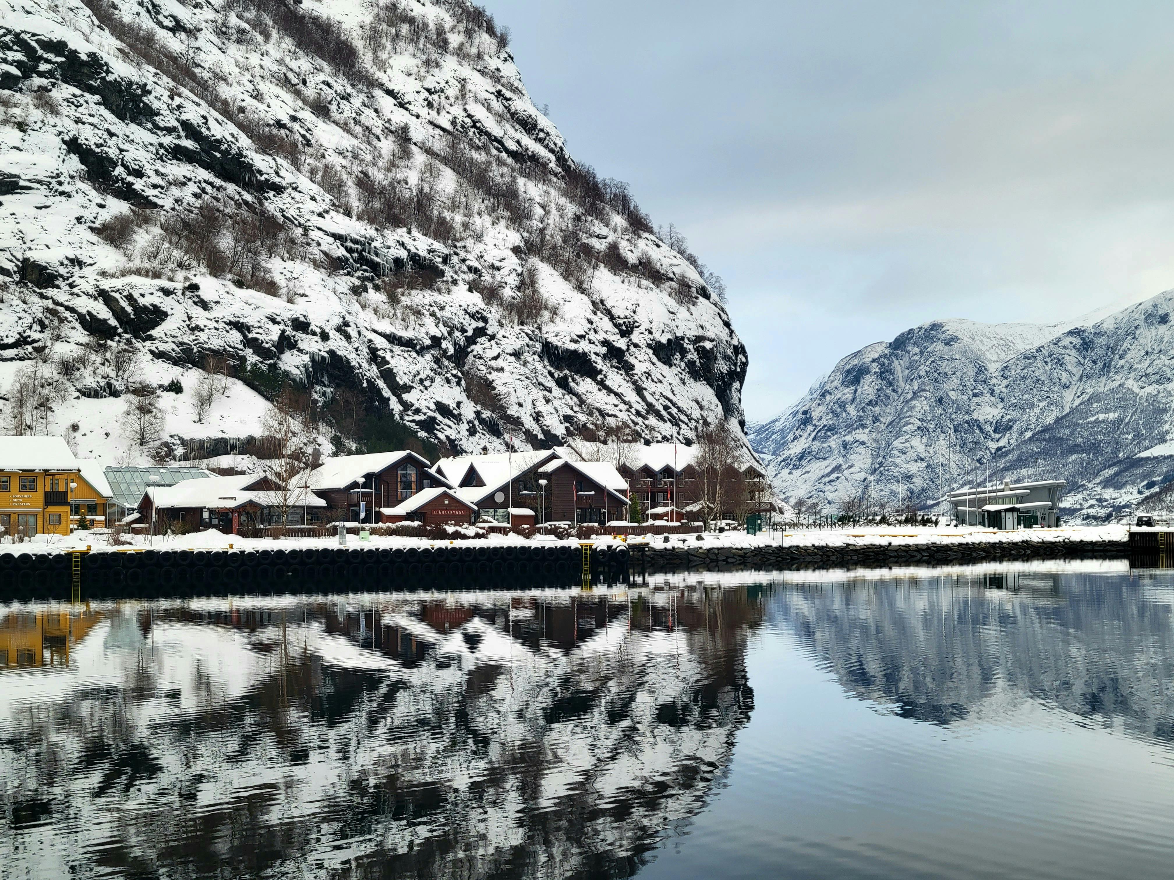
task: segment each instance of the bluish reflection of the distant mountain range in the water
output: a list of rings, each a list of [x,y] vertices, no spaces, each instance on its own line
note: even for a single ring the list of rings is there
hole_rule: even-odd
[[[902,717],[946,725],[1032,699],[1169,743],[1174,593],[1095,564],[850,583],[801,575],[775,609],[848,691]]]

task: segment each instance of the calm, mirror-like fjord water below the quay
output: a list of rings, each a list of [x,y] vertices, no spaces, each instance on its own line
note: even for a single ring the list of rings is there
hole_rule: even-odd
[[[0,621],[5,878],[1174,872],[1169,573]]]

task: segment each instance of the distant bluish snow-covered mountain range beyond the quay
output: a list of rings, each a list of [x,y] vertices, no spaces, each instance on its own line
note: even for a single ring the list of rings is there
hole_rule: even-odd
[[[931,503],[974,480],[1059,478],[1100,520],[1174,474],[1174,292],[1072,324],[940,320],[849,354],[749,428],[780,494]]]

